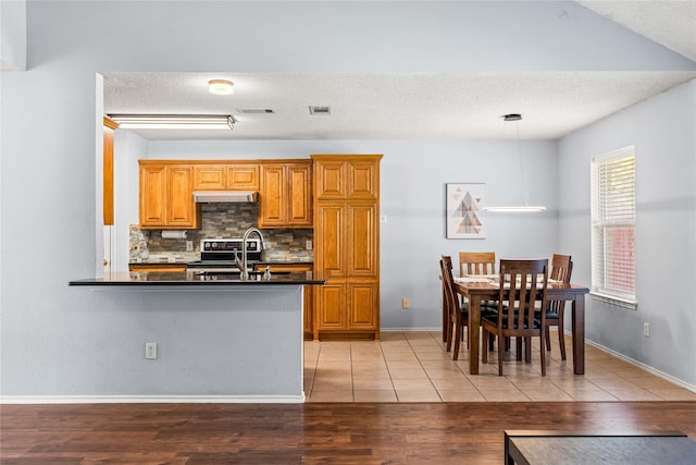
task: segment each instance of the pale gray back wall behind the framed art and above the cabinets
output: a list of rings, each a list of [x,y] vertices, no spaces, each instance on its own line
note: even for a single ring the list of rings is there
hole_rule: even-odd
[[[502,124],[502,123],[501,123]],[[550,257],[556,248],[556,143],[522,142],[531,204],[546,212],[487,213],[484,240],[445,238],[446,183],[485,183],[487,205],[521,205],[514,140],[150,142],[154,159],[308,158],[310,154],[383,154],[381,172],[381,316],[385,329],[437,329],[437,260],[460,250],[498,257]],[[401,298],[410,309],[401,309]]]

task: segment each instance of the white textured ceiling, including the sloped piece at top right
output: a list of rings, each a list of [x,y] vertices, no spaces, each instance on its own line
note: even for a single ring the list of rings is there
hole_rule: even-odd
[[[577,1],[696,61],[696,1]],[[212,78],[235,83],[208,93]],[[696,78],[696,72],[451,74],[107,73],[105,113],[233,114],[234,131],[136,131],[148,139],[556,139]],[[310,106],[331,106],[311,115]],[[275,113],[245,114],[270,108]]]

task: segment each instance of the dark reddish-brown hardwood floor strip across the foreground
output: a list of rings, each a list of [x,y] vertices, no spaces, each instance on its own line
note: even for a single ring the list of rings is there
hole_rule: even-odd
[[[1,405],[0,415],[3,465],[500,464],[506,429],[696,439],[696,402]]]

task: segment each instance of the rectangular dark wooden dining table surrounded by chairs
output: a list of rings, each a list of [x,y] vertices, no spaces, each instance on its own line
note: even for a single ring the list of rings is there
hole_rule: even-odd
[[[499,284],[493,282],[461,282],[455,280],[455,289],[458,294],[469,299],[469,328],[481,326],[481,303],[485,301],[497,301],[500,292]],[[561,282],[549,282],[546,291],[548,301],[570,301],[572,303],[571,327],[572,327],[572,352],[573,372],[575,375],[585,374],[585,294],[589,290],[577,284],[567,284]],[[449,325],[449,313],[443,309],[443,328]],[[559,331],[562,331],[559,328]],[[478,346],[481,344],[481,332],[469,331],[469,372],[478,375]]]

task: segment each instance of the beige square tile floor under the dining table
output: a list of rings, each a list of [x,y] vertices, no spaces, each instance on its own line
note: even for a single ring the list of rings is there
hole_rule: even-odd
[[[532,364],[512,353],[499,377],[496,352],[480,375],[469,375],[467,344],[455,362],[439,331],[385,331],[381,342],[306,341],[304,393],[307,402],[696,401],[696,393],[591,345],[585,375],[573,375],[570,339],[563,362],[555,331],[542,377],[535,342]]]

